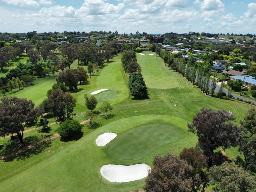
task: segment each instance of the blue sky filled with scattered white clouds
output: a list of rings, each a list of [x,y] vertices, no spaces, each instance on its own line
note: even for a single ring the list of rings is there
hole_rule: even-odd
[[[255,0],[0,0],[0,32],[256,33]]]

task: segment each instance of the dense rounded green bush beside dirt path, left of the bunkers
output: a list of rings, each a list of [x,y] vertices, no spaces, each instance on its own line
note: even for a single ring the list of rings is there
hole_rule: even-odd
[[[82,127],[83,125],[81,125],[78,121],[68,119],[60,124],[58,133],[61,137],[67,138],[80,132]]]

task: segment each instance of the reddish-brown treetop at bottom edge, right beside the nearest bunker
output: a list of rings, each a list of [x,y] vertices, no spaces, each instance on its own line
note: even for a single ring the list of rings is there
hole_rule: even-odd
[[[154,168],[148,175],[146,192],[199,191],[201,180],[185,160],[174,154],[154,158]]]

